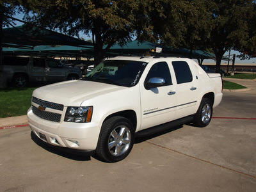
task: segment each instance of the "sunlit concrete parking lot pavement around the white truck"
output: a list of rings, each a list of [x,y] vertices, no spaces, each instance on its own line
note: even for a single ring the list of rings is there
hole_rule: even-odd
[[[252,89],[224,92],[207,127],[137,138],[113,164],[49,147],[28,126],[0,129],[0,191],[255,191],[256,82],[243,84]]]

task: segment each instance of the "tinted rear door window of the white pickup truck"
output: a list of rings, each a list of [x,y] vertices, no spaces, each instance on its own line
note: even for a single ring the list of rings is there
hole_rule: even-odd
[[[186,61],[172,61],[177,83],[188,83],[193,80],[191,70]]]

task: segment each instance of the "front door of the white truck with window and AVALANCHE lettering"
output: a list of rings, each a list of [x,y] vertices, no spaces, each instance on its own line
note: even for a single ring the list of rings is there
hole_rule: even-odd
[[[166,83],[157,88],[147,88],[145,84],[140,84],[141,130],[175,119],[177,95],[168,63],[163,61],[152,65],[144,82],[152,77],[161,77]]]

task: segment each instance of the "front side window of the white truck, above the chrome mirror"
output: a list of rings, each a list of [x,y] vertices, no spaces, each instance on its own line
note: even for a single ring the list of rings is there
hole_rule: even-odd
[[[165,80],[166,85],[172,84],[170,69],[166,62],[159,62],[154,64],[150,68],[145,81],[148,82],[152,77],[161,77]]]

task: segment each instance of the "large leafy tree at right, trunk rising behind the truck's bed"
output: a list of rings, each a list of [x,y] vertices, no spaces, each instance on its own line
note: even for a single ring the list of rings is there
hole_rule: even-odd
[[[179,0],[163,8],[165,19],[156,17],[154,24],[160,29],[154,31],[161,42],[191,51],[205,49],[214,52],[216,72],[220,72],[221,59],[229,49],[255,50],[253,0]]]

